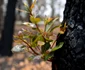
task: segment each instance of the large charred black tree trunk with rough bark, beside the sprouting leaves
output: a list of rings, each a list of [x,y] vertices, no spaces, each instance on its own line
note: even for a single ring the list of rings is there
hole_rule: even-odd
[[[85,70],[85,0],[67,0],[64,22],[68,28],[57,42],[64,46],[55,52],[52,70]]]

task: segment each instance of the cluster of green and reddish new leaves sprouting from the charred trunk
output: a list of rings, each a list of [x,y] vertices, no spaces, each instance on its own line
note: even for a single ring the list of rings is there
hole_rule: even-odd
[[[56,18],[49,18],[45,17],[44,19],[41,19],[39,17],[35,17],[32,14],[32,9],[34,8],[36,3],[36,0],[32,3],[31,7],[28,7],[26,4],[26,11],[30,13],[30,21],[26,22],[24,25],[28,27],[28,29],[22,28],[21,31],[18,32],[17,35],[14,35],[14,41],[17,42],[20,48],[26,48],[24,51],[27,51],[32,54],[32,56],[29,57],[30,60],[33,60],[35,57],[40,55],[40,58],[47,61],[51,60],[54,57],[54,52],[58,49],[60,49],[64,42],[60,42],[56,45],[56,42],[58,40],[59,34],[64,34],[66,30],[66,23],[62,27],[62,24],[55,25],[54,23],[57,22],[58,17]],[[43,28],[39,26],[39,23],[43,21]],[[56,28],[59,28],[60,31],[58,34],[54,34],[54,30]],[[55,39],[52,39],[51,37],[54,37]],[[14,47],[15,48],[15,47]],[[16,52],[16,49],[12,50],[13,52]]]

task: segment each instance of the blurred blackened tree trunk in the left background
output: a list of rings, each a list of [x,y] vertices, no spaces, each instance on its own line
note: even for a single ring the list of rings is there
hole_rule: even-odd
[[[4,30],[1,38],[0,54],[2,56],[11,56],[11,48],[13,41],[14,21],[15,21],[15,6],[17,0],[8,0],[7,12],[4,22]]]

